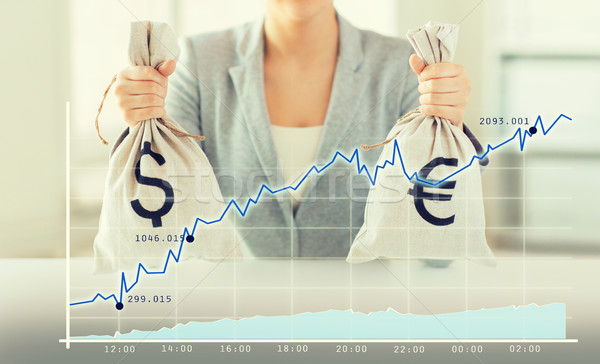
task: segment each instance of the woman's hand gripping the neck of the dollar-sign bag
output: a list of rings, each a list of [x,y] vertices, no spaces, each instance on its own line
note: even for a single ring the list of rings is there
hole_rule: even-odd
[[[123,119],[133,127],[142,120],[163,118],[167,78],[175,72],[175,61],[168,60],[158,70],[132,66],[117,74],[114,95]]]

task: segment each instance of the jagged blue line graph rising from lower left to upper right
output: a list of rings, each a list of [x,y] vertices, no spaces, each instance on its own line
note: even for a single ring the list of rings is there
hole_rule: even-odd
[[[223,213],[221,214],[221,216],[213,221],[206,221],[203,220],[201,218],[196,218],[196,221],[194,223],[194,226],[192,228],[192,231],[190,233],[190,231],[188,230],[187,227],[184,228],[184,233],[183,233],[183,239],[181,240],[181,243],[179,244],[179,249],[177,251],[177,254],[175,254],[173,252],[173,250],[169,249],[169,252],[167,253],[167,258],[165,260],[165,264],[162,268],[162,270],[160,271],[148,271],[148,269],[146,269],[146,267],[142,264],[139,263],[138,264],[138,268],[137,268],[137,274],[135,277],[135,281],[131,284],[131,285],[127,285],[127,280],[125,278],[125,272],[121,273],[121,285],[120,285],[120,292],[118,294],[118,298],[117,295],[115,293],[110,294],[108,296],[104,296],[101,293],[97,293],[92,299],[87,300],[87,301],[79,301],[79,302],[73,302],[70,303],[70,306],[77,306],[77,305],[83,305],[83,304],[88,304],[88,303],[93,303],[95,302],[97,299],[101,298],[104,301],[108,301],[110,299],[113,299],[115,301],[115,303],[117,304],[117,309],[122,309],[123,308],[123,294],[124,293],[128,293],[129,291],[131,291],[133,289],[133,287],[135,287],[139,280],[140,280],[140,274],[143,271],[144,273],[148,274],[148,275],[152,275],[152,274],[165,274],[167,271],[167,267],[169,265],[169,261],[171,260],[171,257],[173,257],[173,260],[178,263],[179,259],[181,257],[181,250],[183,249],[183,244],[185,242],[185,238],[188,235],[194,235],[194,232],[196,231],[196,227],[198,226],[198,223],[203,223],[206,225],[210,225],[210,224],[214,224],[217,223],[221,220],[223,220],[223,218],[225,217],[225,215],[227,214],[227,212],[231,209],[231,207],[235,207],[235,209],[240,213],[240,215],[243,217],[246,215],[246,212],[248,211],[248,208],[250,207],[251,204],[255,205],[258,200],[260,199],[260,196],[263,194],[264,191],[268,191],[271,194],[276,194],[285,190],[297,190],[298,187],[300,187],[300,185],[304,182],[304,180],[306,180],[309,175],[311,173],[316,173],[319,174],[321,172],[323,172],[325,169],[327,169],[330,165],[332,165],[333,163],[335,163],[335,161],[337,160],[338,157],[342,158],[343,160],[345,160],[346,162],[348,162],[349,164],[353,163],[354,161],[356,161],[356,167],[357,167],[357,171],[358,174],[362,174],[364,172],[364,174],[367,176],[367,178],[369,178],[369,182],[371,183],[371,185],[375,185],[376,181],[377,181],[377,174],[379,173],[380,170],[384,169],[386,166],[390,165],[393,166],[396,163],[396,158],[398,158],[398,160],[400,161],[400,165],[402,166],[402,171],[404,172],[404,175],[406,176],[406,178],[408,178],[409,181],[412,180],[417,180],[418,182],[427,185],[427,186],[431,186],[431,187],[435,187],[441,183],[444,183],[446,180],[448,180],[449,178],[452,178],[453,176],[455,176],[456,174],[462,172],[463,170],[469,168],[476,160],[482,160],[484,159],[491,151],[496,150],[508,143],[510,143],[511,141],[518,139],[519,140],[519,149],[520,151],[523,151],[524,147],[525,147],[525,141],[527,140],[528,137],[533,136],[533,134],[535,134],[536,132],[533,130],[537,130],[537,127],[539,125],[539,128],[542,131],[543,135],[548,134],[548,132],[550,132],[550,130],[554,127],[554,125],[556,125],[556,123],[561,119],[561,118],[565,118],[567,120],[572,120],[570,117],[564,115],[564,114],[560,114],[558,116],[558,118],[556,118],[556,120],[554,120],[554,122],[552,122],[552,124],[548,127],[545,128],[544,127],[544,123],[542,122],[542,118],[541,116],[538,116],[536,119],[535,124],[533,125],[533,127],[529,128],[529,130],[524,130],[522,128],[518,128],[516,130],[516,132],[507,140],[503,141],[502,143],[492,146],[491,144],[488,144],[485,152],[479,156],[474,155],[471,158],[471,161],[466,164],[464,167],[454,171],[452,174],[446,176],[445,178],[441,179],[441,180],[436,180],[436,181],[431,181],[431,180],[427,180],[427,179],[421,179],[417,172],[414,172],[412,174],[409,174],[406,171],[406,168],[404,166],[404,161],[402,160],[402,155],[400,153],[400,147],[398,146],[398,141],[394,140],[394,152],[392,155],[392,160],[386,160],[382,165],[377,165],[375,166],[375,170],[373,172],[373,175],[371,175],[371,172],[369,172],[368,168],[366,165],[361,164],[360,163],[360,159],[359,159],[359,155],[358,155],[358,148],[356,148],[354,150],[354,152],[352,153],[352,155],[350,157],[345,156],[344,154],[340,153],[339,151],[337,151],[333,158],[331,159],[331,161],[327,164],[325,164],[322,167],[317,167],[315,165],[313,165],[304,175],[304,177],[302,177],[302,179],[295,185],[295,186],[286,186],[277,190],[272,190],[270,189],[267,185],[263,184],[259,191],[258,194],[256,195],[256,198],[254,199],[249,199],[248,202],[246,203],[246,205],[244,206],[244,208],[240,208],[240,206],[235,202],[235,200],[231,200],[229,201],[229,203],[227,204],[227,207],[225,208],[225,210],[223,211]],[[530,132],[530,130],[533,131]]]

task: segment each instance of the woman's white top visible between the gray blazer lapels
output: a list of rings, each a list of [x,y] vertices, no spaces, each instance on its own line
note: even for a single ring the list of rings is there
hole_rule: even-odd
[[[289,127],[271,124],[271,134],[279,163],[283,168],[285,186],[295,186],[314,165],[323,126]],[[294,212],[302,200],[307,181],[296,191],[286,190],[292,197]]]

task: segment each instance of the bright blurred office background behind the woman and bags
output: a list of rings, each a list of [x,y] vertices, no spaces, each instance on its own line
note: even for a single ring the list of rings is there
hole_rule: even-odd
[[[128,64],[129,22],[166,21],[179,35],[222,29],[263,11],[256,0],[21,0],[0,5],[2,189],[0,257],[65,254],[65,113],[71,112],[72,255],[89,256],[108,164],[93,127],[112,76]],[[484,175],[488,241],[499,256],[600,254],[600,4],[592,0],[337,0],[356,26],[404,37],[428,20],[460,23],[456,62],[473,91],[465,122],[482,143],[517,126],[546,125],[492,155]],[[402,60],[399,60],[401,62]],[[114,100],[100,120],[112,141],[124,129]],[[541,134],[541,133],[540,133]]]

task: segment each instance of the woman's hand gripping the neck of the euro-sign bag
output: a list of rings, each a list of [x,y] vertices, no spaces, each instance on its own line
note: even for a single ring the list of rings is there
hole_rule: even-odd
[[[425,67],[416,54],[411,55],[408,62],[419,76],[421,113],[448,119],[462,129],[471,93],[471,81],[464,67],[455,63],[435,63]]]

